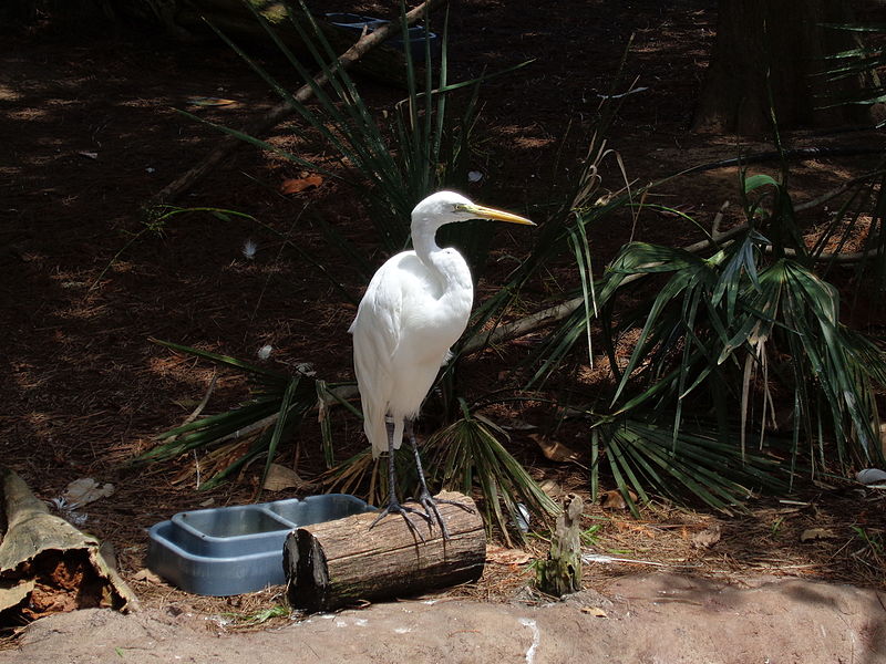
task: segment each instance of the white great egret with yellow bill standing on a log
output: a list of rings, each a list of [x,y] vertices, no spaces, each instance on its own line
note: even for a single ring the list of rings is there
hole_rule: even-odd
[[[421,538],[409,515],[419,515],[433,528],[433,513],[443,537],[449,539],[437,500],[427,490],[413,422],[450,356],[450,347],[464,332],[474,300],[467,263],[452,247],[436,245],[436,231],[446,224],[470,219],[535,226],[528,219],[476,205],[453,191],[432,194],[412,210],[414,250],[402,251],[379,268],[349,330],[353,334],[363,429],[372,444],[373,458],[388,452],[389,502],[370,528],[385,516],[399,513]],[[390,430],[388,417],[393,421]],[[394,450],[400,448],[404,432],[415,455],[420,484],[416,501],[424,512],[404,507],[396,498]]]

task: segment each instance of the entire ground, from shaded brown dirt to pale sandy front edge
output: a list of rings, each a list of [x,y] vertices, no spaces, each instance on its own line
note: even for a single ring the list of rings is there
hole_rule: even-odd
[[[323,7],[378,15],[385,11],[380,4]],[[638,76],[643,91],[626,101],[608,143],[631,179],[647,183],[734,157],[739,149],[771,149],[764,142],[688,131],[713,39],[714,7],[704,0],[569,0],[556,10],[526,3],[519,12],[502,0],[454,6],[453,79],[534,59],[483,89],[472,166],[484,177],[467,193],[544,216],[553,183],[584,157],[583,133],[600,95],[609,92],[631,34],[628,79]],[[278,66],[270,56],[268,63]],[[361,85],[378,107],[402,96],[373,82]],[[197,97],[233,103],[198,106]],[[236,54],[212,40],[126,31],[81,39],[37,31],[0,40],[2,463],[45,500],[81,477],[115,486],[111,498],[84,510],[83,528],[113,544],[121,574],[142,603],[131,616],[87,610],[41,619],[3,642],[10,650],[0,652],[0,662],[409,657],[420,664],[569,662],[579,654],[649,663],[884,661],[884,554],[858,536],[858,529],[884,532],[884,497],[837,480],[804,488],[791,497],[794,502],[756,499],[751,513],[732,518],[662,504],[633,519],[589,506],[587,525],[600,526],[589,551],[626,561],[586,566],[585,587],[595,590],[566,603],[526,591],[528,560],[544,554],[543,542],[527,547],[527,561],[491,561],[478,583],[432,600],[295,623],[277,616],[255,624],[261,611],[281,603],[279,588],[198,598],[144,575],[150,526],[184,509],[248,502],[259,473],[250,467],[218,489],[196,491],[190,458],[138,473],[122,466],[158,432],[181,423],[213,376],[212,367],[173,355],[150,338],[243,357],[270,344],[272,361],[284,369],[308,362],[326,380],[352,377],[347,329],[353,305],[254,222],[182,216],[121,252],[144,228],[145,201],[218,141],[175,108],[243,126],[276,102]],[[297,135],[297,123],[287,122],[271,137],[292,147]],[[795,132],[785,139],[793,147],[882,144],[879,134],[861,131]],[[812,199],[868,165],[858,157],[797,160],[792,193],[799,203]],[[329,180],[301,194],[279,194],[285,179],[301,175],[278,157],[244,147],[177,203],[247,212],[298,237],[305,251],[322,257],[359,294],[359,276],[308,217],[337,224],[380,263],[363,206]],[[604,178],[607,188],[620,186],[614,160]],[[709,225],[723,201],[735,200],[735,181],[734,169],[713,169],[676,180],[658,195]],[[590,231],[598,266],[631,237],[674,246],[699,239],[691,225],[652,214],[615,217]],[[253,260],[241,251],[247,239],[258,245]],[[499,282],[506,258],[519,251],[511,237],[496,241],[498,260],[481,286],[481,300]],[[842,288],[851,292],[852,282]],[[882,334],[883,308],[856,304],[847,320]],[[465,381],[494,382],[499,369],[488,359],[477,361],[465,369]],[[223,374],[213,408],[244,396],[243,382]],[[543,427],[552,415],[530,414]],[[340,419],[336,436],[340,458],[363,445],[356,419]],[[280,452],[280,463],[313,478],[322,469],[317,439],[308,426]],[[580,466],[546,460],[528,438],[515,436],[513,446],[555,492],[587,495]],[[801,541],[812,528],[827,536]],[[699,543],[698,536],[712,530],[719,540]]]

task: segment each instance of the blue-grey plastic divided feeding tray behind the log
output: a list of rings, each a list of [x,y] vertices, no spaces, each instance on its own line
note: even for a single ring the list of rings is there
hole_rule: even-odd
[[[374,508],[329,494],[178,512],[148,530],[147,567],[182,590],[231,595],[286,582],[282,550],[291,530]]]

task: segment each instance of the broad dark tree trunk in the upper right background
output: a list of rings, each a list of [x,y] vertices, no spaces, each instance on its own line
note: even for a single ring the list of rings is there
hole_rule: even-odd
[[[814,74],[824,56],[855,48],[856,38],[822,23],[847,23],[847,0],[720,0],[717,40],[693,129],[760,135],[780,128],[869,122],[868,108],[827,105],[861,81],[828,83]]]

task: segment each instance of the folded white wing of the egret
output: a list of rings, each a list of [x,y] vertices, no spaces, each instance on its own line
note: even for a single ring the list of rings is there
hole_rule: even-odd
[[[375,272],[350,329],[363,429],[372,444],[373,457],[388,449],[385,415],[393,390],[391,361],[401,341],[403,290],[395,258]]]

